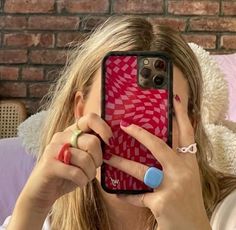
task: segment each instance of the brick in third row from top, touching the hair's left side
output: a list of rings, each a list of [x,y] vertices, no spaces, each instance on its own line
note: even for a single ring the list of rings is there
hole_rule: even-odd
[[[57,47],[66,47],[74,43],[81,44],[86,34],[80,32],[62,32],[57,34]]]

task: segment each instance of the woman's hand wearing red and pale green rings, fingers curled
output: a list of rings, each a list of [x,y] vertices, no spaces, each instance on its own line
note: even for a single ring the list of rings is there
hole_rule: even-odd
[[[84,187],[95,178],[96,169],[102,164],[100,140],[91,132],[109,144],[111,128],[96,114],[81,117],[77,125],[83,133],[77,139],[78,148],[69,148],[70,164],[56,158],[62,146],[70,143],[76,124],[55,133],[23,189],[20,199],[30,202],[37,210],[48,210],[60,196]]]

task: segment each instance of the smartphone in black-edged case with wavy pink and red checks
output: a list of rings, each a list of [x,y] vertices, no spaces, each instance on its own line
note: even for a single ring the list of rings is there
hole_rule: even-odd
[[[140,142],[120,128],[124,119],[172,146],[173,67],[166,53],[113,51],[102,61],[101,116],[111,127],[114,147],[102,144],[103,154],[115,154],[162,170]],[[137,194],[153,189],[108,164],[101,167],[101,185],[108,193]]]

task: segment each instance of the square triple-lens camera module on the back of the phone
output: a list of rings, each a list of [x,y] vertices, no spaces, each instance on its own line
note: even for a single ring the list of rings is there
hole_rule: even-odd
[[[143,88],[165,88],[167,83],[166,61],[159,57],[142,57],[139,60],[139,85]]]

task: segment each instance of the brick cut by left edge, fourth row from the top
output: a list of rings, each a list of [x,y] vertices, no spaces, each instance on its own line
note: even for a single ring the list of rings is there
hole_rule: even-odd
[[[0,63],[26,63],[26,50],[0,50]]]

